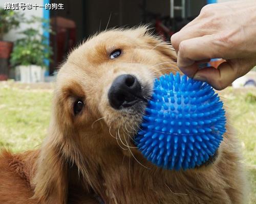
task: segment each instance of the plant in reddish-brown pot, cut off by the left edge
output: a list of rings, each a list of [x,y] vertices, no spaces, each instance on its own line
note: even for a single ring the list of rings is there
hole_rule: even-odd
[[[0,8],[0,81],[8,78],[8,59],[13,48],[13,42],[4,41],[4,35],[17,28],[22,20],[23,14]]]

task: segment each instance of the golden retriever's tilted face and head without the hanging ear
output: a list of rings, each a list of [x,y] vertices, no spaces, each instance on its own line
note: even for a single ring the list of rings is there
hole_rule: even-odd
[[[92,142],[130,145],[154,79],[176,72],[174,60],[172,47],[145,27],[92,37],[59,70],[54,99],[57,125],[66,134],[76,132],[82,148],[93,147]]]

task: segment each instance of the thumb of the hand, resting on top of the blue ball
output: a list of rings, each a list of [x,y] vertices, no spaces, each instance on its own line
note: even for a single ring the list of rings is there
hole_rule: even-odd
[[[232,84],[239,77],[237,69],[228,62],[223,62],[216,69],[206,67],[197,71],[194,76],[195,80],[208,82],[217,90],[222,90]]]

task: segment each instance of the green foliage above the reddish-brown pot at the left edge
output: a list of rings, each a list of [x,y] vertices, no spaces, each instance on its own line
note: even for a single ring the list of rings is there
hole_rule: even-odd
[[[0,40],[3,40],[4,34],[11,29],[17,28],[23,20],[24,14],[0,8]]]

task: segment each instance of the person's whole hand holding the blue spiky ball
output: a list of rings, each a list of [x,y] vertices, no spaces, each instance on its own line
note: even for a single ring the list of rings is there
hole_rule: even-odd
[[[256,65],[256,4],[254,0],[210,4],[171,38],[177,65],[188,77],[217,90],[229,86]],[[198,63],[226,60],[199,70]]]

